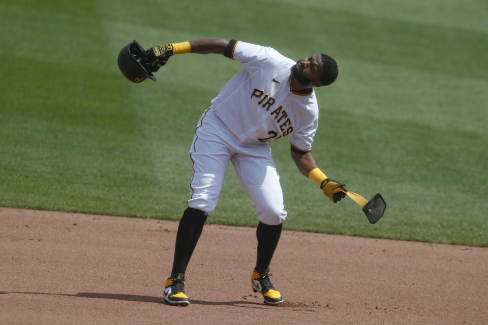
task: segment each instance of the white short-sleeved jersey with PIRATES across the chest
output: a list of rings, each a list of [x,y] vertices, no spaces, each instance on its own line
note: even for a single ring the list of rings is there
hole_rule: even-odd
[[[212,100],[217,116],[242,142],[290,136],[300,151],[310,151],[318,123],[315,92],[291,91],[295,61],[275,49],[237,42],[232,59],[243,68]]]

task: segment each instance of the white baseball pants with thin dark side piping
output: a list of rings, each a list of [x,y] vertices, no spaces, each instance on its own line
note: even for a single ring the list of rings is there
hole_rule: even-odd
[[[238,122],[238,121],[236,121]],[[198,121],[190,149],[193,177],[188,206],[214,212],[229,161],[240,184],[253,200],[258,219],[267,225],[281,224],[287,215],[280,176],[266,142],[242,143],[210,107]]]

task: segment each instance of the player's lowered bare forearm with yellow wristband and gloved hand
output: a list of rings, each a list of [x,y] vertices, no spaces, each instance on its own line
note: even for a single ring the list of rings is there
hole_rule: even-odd
[[[296,164],[298,170],[305,176],[312,179],[317,185],[320,186],[325,195],[327,195],[330,201],[337,203],[341,201],[346,194],[341,190],[346,190],[346,185],[342,184],[338,180],[329,179],[315,163],[312,153],[307,152],[305,154],[291,152],[291,158]]]

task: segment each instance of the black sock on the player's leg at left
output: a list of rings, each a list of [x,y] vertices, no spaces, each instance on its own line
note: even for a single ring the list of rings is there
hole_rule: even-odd
[[[202,210],[189,207],[183,213],[176,234],[171,275],[185,274],[206,220],[207,216]]]

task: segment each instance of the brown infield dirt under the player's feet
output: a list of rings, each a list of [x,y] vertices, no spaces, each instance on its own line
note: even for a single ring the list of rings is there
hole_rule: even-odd
[[[0,324],[488,324],[488,248],[284,231],[266,306],[255,228],[210,224],[170,306],[177,226],[0,208]]]

